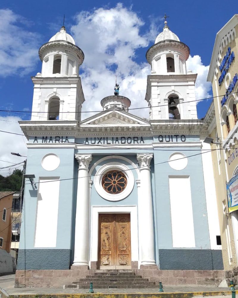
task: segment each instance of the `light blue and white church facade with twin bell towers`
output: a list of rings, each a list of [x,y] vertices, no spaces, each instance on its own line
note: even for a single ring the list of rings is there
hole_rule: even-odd
[[[102,111],[81,120],[84,53],[65,27],[41,46],[32,119],[20,121],[29,140],[26,175],[35,178],[26,179],[16,276],[223,269],[212,156],[203,142],[210,123],[197,118],[189,54],[165,21],[146,53],[149,119],[130,112],[116,84]]]

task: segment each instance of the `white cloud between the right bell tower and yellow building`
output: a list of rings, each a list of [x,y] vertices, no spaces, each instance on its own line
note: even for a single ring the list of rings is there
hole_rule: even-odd
[[[207,74],[209,65],[203,65],[199,55],[189,56],[187,60],[187,70],[191,69],[193,73],[197,73],[198,77],[195,84],[196,100],[211,97],[211,83],[207,82]],[[201,101],[197,102],[201,103]]]

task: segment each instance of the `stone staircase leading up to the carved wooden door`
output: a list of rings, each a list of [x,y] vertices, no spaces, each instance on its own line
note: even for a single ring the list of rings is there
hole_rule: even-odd
[[[72,285],[64,285],[69,288],[90,288],[90,282],[95,289],[115,289],[115,288],[155,288],[154,282],[149,282],[148,278],[142,278],[141,275],[135,275],[132,270],[107,270],[106,272],[96,272],[93,275],[87,275],[80,281],[72,282]]]

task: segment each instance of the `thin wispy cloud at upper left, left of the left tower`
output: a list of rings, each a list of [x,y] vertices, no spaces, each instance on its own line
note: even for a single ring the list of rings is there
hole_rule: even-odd
[[[24,29],[27,21],[9,9],[0,9],[0,76],[24,75],[38,62],[39,35]]]

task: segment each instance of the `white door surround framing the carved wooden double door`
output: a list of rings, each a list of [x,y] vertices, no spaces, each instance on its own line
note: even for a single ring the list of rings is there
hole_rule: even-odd
[[[130,213],[131,216],[131,261],[138,261],[138,211],[137,206],[92,206],[90,230],[90,262],[98,261],[98,214]]]

